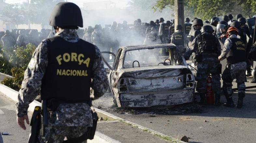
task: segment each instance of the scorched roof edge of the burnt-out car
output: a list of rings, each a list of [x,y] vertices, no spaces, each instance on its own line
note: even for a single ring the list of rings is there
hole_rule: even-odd
[[[176,48],[174,44],[157,44],[157,45],[135,45],[135,46],[123,46],[121,47],[126,51],[149,49],[149,48]]]

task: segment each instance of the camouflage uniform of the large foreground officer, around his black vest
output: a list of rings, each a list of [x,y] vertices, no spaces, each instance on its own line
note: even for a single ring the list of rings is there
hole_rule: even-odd
[[[74,29],[63,29],[55,34],[68,42],[78,42],[77,31]],[[19,91],[16,104],[17,116],[27,115],[29,104],[38,95],[42,78],[48,66],[47,41],[43,40],[36,48],[27,70],[24,73],[24,80]],[[101,97],[108,88],[106,71],[100,56],[100,50],[95,46],[96,54],[92,66],[92,84],[94,99]],[[42,142],[61,143],[65,137],[76,138],[92,127],[91,108],[86,103],[60,104],[56,111],[48,113],[48,126],[45,128],[45,136]],[[86,141],[85,141],[86,142]]]

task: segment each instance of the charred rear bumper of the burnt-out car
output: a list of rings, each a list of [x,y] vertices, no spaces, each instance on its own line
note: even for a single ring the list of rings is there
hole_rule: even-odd
[[[179,105],[191,103],[194,89],[165,91],[157,94],[120,94],[122,107],[150,107],[156,105]]]

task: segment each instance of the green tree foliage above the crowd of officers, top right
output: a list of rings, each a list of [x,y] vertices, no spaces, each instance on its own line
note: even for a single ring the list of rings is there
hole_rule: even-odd
[[[162,11],[166,7],[174,7],[174,0],[157,0],[152,8]],[[214,16],[242,14],[244,17],[256,13],[255,0],[184,0],[185,16],[200,17],[210,20]]]

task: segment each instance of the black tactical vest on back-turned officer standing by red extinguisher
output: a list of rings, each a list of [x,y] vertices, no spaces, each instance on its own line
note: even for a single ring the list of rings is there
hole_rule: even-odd
[[[217,44],[215,36],[211,34],[199,34],[197,36],[198,52],[217,53]]]

